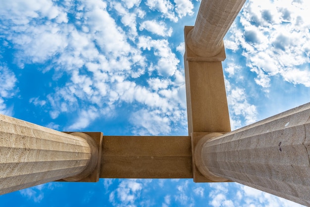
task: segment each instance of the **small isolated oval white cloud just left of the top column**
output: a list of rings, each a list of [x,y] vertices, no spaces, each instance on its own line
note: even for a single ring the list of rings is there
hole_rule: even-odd
[[[170,37],[172,34],[172,28],[170,27],[168,29],[163,21],[157,22],[156,20],[147,20],[140,24],[139,29],[140,31],[145,29],[148,30],[149,32],[152,32],[153,34],[163,37],[165,36]]]

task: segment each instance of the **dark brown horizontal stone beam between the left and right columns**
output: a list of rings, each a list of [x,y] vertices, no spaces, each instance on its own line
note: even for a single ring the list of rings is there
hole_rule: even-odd
[[[192,178],[189,136],[103,136],[101,178]]]

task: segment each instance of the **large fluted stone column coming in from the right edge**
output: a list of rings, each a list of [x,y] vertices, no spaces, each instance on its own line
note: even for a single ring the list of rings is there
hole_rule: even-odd
[[[195,149],[195,163],[208,179],[310,206],[310,103],[218,135],[205,136]]]

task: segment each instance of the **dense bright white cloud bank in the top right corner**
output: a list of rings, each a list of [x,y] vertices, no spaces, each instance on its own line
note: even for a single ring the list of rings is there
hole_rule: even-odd
[[[240,23],[230,28],[226,48],[243,49],[247,66],[257,74],[256,83],[270,87],[270,78],[310,86],[310,5],[292,0],[247,1]],[[298,75],[299,74],[299,75]],[[264,90],[268,92],[269,90]]]

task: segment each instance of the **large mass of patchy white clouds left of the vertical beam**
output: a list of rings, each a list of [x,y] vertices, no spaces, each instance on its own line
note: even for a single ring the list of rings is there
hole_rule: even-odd
[[[133,110],[132,117],[139,115],[149,118],[146,123],[131,121],[132,124],[137,124],[134,130],[138,134],[165,134],[171,132],[171,129],[178,130],[179,124],[182,127],[186,125],[184,75],[179,71],[180,61],[172,52],[168,41],[143,37],[144,40],[137,40],[137,45],[132,44],[137,35],[136,15],[143,17],[146,14],[136,8],[139,3],[140,1],[126,1],[124,4],[111,2],[109,9],[115,9],[123,25],[116,24],[105,2],[81,0],[77,7],[79,12],[73,22],[60,24],[42,15],[28,15],[26,25],[11,27],[5,31],[8,42],[16,47],[16,62],[21,67],[25,63],[49,61],[51,64],[42,71],[52,70],[55,74],[53,82],[67,77],[65,82],[59,82],[54,87],[53,93],[46,95],[46,99],[37,97],[29,100],[32,104],[44,105],[48,109],[54,119],[51,123],[56,123],[60,115],[67,114],[71,122],[63,127],[70,130],[81,129],[103,114],[113,116],[111,114],[115,114],[117,104],[135,103],[139,104],[139,109]],[[155,3],[156,6],[152,9],[156,9],[158,3],[161,5],[162,2]],[[168,1],[164,3],[169,4]],[[73,9],[70,2],[61,4],[63,5],[68,7],[57,7],[63,13]],[[129,12],[129,9],[134,12]],[[162,9],[163,12],[173,13],[173,6],[168,10]],[[37,20],[44,24],[36,25]],[[165,35],[171,35],[172,30],[162,21],[149,21],[152,22],[155,26],[164,26],[157,28],[158,31],[163,29]],[[147,23],[146,19],[142,25],[147,26]],[[18,33],[14,34],[13,30]],[[128,31],[131,31],[131,35]],[[145,49],[150,50],[149,53],[153,53],[155,59],[147,61]],[[149,85],[136,84],[136,78],[146,71],[149,72],[146,79]],[[162,77],[161,81],[153,78],[157,75]],[[1,103],[1,110],[4,110],[4,101]],[[162,123],[166,127],[159,127]],[[57,127],[52,124],[50,126]]]

